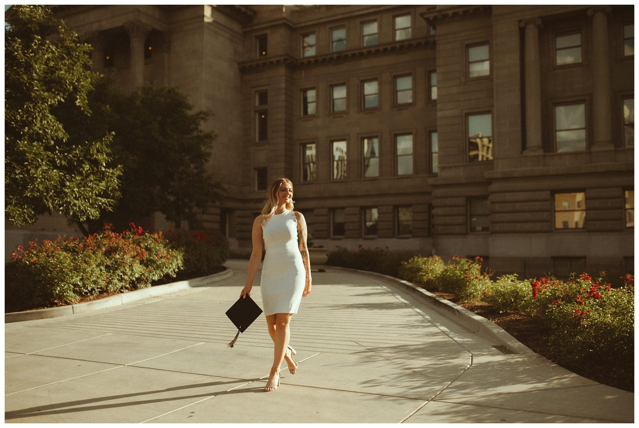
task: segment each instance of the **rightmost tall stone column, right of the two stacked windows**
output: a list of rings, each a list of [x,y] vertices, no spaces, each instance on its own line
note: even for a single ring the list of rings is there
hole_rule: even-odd
[[[608,54],[608,13],[610,6],[597,6],[588,10],[592,16],[592,150],[613,149],[612,109],[610,98],[610,55]]]

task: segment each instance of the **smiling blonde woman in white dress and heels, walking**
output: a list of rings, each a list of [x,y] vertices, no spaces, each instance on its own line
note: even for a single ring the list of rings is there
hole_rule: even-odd
[[[302,213],[293,211],[293,183],[278,178],[268,188],[262,214],[253,222],[253,250],[249,273],[240,297],[249,294],[262,259],[262,244],[266,249],[260,289],[268,333],[275,344],[265,391],[279,386],[280,365],[286,360],[288,370],[295,374],[295,349],[288,344],[289,323],[297,313],[302,296],[311,293],[311,265],[306,247],[306,221]]]

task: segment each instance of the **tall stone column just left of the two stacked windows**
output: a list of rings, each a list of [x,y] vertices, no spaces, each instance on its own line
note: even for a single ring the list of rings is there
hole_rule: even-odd
[[[539,28],[541,19],[520,22],[525,27],[524,75],[526,89],[526,149],[524,155],[542,155],[541,71],[539,70]]]

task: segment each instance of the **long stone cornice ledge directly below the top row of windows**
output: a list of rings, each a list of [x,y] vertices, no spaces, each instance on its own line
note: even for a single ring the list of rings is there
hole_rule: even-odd
[[[367,46],[358,49],[341,50],[339,52],[331,52],[330,54],[315,55],[302,58],[295,58],[290,55],[280,55],[266,59],[244,61],[242,63],[239,63],[238,66],[240,68],[240,71],[248,70],[249,68],[279,65],[282,63],[291,66],[305,66],[311,64],[326,63],[330,61],[339,61],[340,59],[349,59],[353,57],[360,57],[363,55],[376,55],[384,54],[386,52],[394,52],[396,50],[413,49],[416,47],[428,45],[429,43],[435,43],[434,36],[413,38],[408,40],[401,40],[401,42],[385,43],[383,45]]]

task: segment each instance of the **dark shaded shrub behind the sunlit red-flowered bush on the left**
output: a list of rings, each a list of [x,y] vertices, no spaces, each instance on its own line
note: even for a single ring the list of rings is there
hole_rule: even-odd
[[[229,242],[220,231],[169,231],[171,247],[184,252],[185,277],[211,275],[219,269],[230,254]]]

